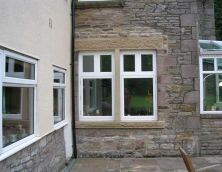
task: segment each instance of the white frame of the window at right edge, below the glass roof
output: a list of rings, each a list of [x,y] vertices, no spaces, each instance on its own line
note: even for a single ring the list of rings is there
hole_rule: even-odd
[[[209,76],[215,75],[215,74],[221,74],[222,75],[222,70],[218,70],[218,65],[217,65],[217,59],[220,58],[222,59],[222,55],[201,55],[199,57],[199,72],[200,72],[200,114],[221,114],[221,110],[217,111],[215,110],[211,110],[211,111],[206,111],[204,110],[204,84],[203,81],[206,78],[203,78],[203,74],[209,74]],[[214,70],[213,71],[204,71],[203,70],[203,59],[213,59],[214,60]],[[216,79],[216,82],[218,81],[218,79]],[[219,90],[219,85],[216,84],[216,90],[218,93]],[[218,95],[216,95],[216,103],[221,103],[222,102],[218,102]]]

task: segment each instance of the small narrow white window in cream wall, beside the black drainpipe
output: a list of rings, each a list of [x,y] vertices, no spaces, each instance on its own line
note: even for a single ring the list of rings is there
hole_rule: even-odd
[[[54,124],[58,125],[65,120],[65,70],[53,67],[53,115]]]

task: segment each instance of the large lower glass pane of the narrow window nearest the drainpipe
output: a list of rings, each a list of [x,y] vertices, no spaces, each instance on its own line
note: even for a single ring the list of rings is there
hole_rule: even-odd
[[[64,120],[64,89],[53,89],[54,124]]]

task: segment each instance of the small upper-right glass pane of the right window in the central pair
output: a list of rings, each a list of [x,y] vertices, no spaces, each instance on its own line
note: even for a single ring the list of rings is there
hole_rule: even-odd
[[[153,56],[150,54],[141,55],[141,70],[142,71],[153,71]]]

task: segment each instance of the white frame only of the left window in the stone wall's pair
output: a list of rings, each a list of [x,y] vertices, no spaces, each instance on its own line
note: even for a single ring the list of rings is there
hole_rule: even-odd
[[[94,72],[83,72],[83,56],[85,55],[94,56]],[[111,55],[111,72],[100,72],[100,55]],[[83,79],[111,79],[112,116],[83,116]],[[79,119],[80,121],[114,120],[114,51],[82,51],[79,53]]]

